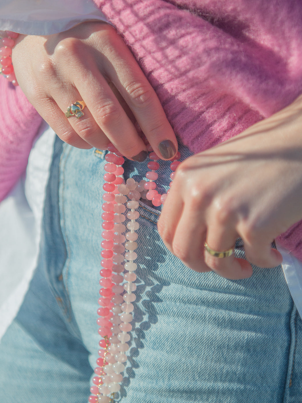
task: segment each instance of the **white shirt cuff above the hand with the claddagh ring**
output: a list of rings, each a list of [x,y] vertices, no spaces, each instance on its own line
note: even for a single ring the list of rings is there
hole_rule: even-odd
[[[89,20],[106,21],[93,0],[0,0],[1,31],[50,35]]]

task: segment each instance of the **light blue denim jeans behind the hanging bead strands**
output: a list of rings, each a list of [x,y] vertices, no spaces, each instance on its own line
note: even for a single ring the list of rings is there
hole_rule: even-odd
[[[55,142],[39,265],[0,344],[1,403],[87,402],[100,339],[103,157]],[[126,179],[146,164],[125,163]],[[170,169],[161,174],[165,187]],[[139,211],[137,300],[116,402],[302,402],[302,322],[281,268],[236,281],[194,272],[163,245],[159,210]],[[244,257],[240,241],[236,253]]]

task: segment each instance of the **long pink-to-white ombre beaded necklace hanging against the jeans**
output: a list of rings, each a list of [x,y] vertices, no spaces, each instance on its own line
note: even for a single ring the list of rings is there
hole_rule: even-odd
[[[110,144],[108,154],[105,156],[107,163],[104,166],[105,174],[103,185],[102,205],[102,237],[101,242],[101,289],[99,294],[99,309],[97,310],[99,335],[102,337],[99,342],[99,358],[95,368],[93,386],[90,388],[92,395],[89,396],[91,403],[114,403],[114,394],[120,391],[120,383],[123,380],[122,372],[125,370],[127,361],[126,351],[129,349],[127,342],[130,340],[134,310],[133,302],[136,299],[133,291],[136,284],[133,283],[137,275],[135,270],[137,259],[135,250],[138,247],[137,239],[139,223],[137,219],[140,214],[139,200],[147,199],[153,206],[164,204],[167,193],[160,195],[156,190],[155,181],[158,178],[156,170],[159,169],[159,157],[148,145],[149,159],[146,173],[147,181],[135,181],[127,179],[126,183],[122,178],[124,168],[124,157]],[[180,153],[172,159],[170,175],[172,181],[175,170],[180,164]],[[127,210],[128,209],[128,210]],[[126,212],[127,211],[127,212]],[[125,214],[126,213],[126,216]],[[126,225],[123,223],[129,219]],[[127,232],[126,232],[127,231]],[[125,235],[123,235],[125,233]]]

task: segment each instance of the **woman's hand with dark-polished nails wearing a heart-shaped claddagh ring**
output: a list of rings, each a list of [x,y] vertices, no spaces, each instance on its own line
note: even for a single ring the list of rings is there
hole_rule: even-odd
[[[163,159],[176,153],[155,91],[112,26],[90,21],[49,36],[19,35],[12,60],[25,95],[66,143],[103,150],[111,142],[126,157],[143,160],[137,122]],[[82,100],[84,116],[66,118],[68,106]]]

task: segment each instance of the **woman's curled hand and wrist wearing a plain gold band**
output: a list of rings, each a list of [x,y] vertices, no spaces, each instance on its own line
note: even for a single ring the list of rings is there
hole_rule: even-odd
[[[159,218],[165,245],[187,266],[231,279],[252,275],[234,255],[205,251],[244,241],[246,258],[275,267],[271,242],[302,219],[302,97],[237,137],[182,162]]]

